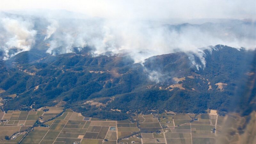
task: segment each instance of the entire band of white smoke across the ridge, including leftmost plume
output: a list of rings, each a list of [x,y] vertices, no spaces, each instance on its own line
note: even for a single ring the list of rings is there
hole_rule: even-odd
[[[57,19],[41,18],[42,26],[37,26],[38,18],[27,15],[1,16],[1,51],[4,59],[14,54],[28,51],[35,40],[49,47],[46,52],[57,55],[91,47],[95,55],[104,52],[127,53],[135,62],[143,62],[154,55],[176,51],[193,52],[202,65],[190,56],[192,64],[205,66],[201,47],[223,44],[231,47],[255,48],[255,22],[227,20],[220,23],[176,24],[162,21],[135,19]],[[14,27],[14,28],[12,28]],[[9,54],[16,48],[17,52]]]

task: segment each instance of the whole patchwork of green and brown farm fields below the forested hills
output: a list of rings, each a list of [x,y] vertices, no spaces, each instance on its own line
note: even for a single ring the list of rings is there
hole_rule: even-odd
[[[1,112],[0,118],[0,144],[214,144],[224,121],[214,111],[136,115],[113,121],[61,107]],[[6,136],[12,137],[4,140]]]

